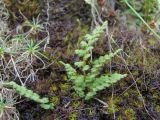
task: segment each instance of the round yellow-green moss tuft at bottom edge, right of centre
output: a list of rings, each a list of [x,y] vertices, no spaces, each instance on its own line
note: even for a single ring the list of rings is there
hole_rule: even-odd
[[[135,111],[131,108],[128,108],[127,110],[125,110],[125,115],[127,117],[127,120],[136,120],[136,116],[135,116]]]

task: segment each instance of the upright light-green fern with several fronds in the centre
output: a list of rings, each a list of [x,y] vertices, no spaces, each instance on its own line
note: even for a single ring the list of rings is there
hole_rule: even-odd
[[[93,45],[98,41],[98,38],[106,27],[107,22],[104,22],[102,26],[96,27],[91,34],[85,36],[85,40],[81,41],[80,49],[75,50],[75,54],[78,55],[81,60],[75,62],[74,65],[82,70],[82,74],[79,74],[70,64],[60,61],[65,66],[68,78],[74,83],[74,89],[77,94],[86,100],[91,99],[98,91],[111,86],[126,76],[126,74],[122,75],[118,73],[110,75],[100,74],[103,65],[110,61],[121,49],[115,53],[106,54],[96,60],[92,60]]]

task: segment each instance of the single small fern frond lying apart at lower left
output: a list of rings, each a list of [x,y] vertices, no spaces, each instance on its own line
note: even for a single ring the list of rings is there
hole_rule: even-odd
[[[48,98],[46,98],[46,97],[40,98],[40,96],[37,93],[34,93],[32,90],[29,90],[24,86],[20,86],[13,81],[3,83],[2,86],[15,89],[17,91],[17,93],[19,93],[20,95],[25,96],[25,97],[27,97],[37,103],[40,103],[40,106],[44,109],[52,109],[53,108],[53,104],[49,103]]]

